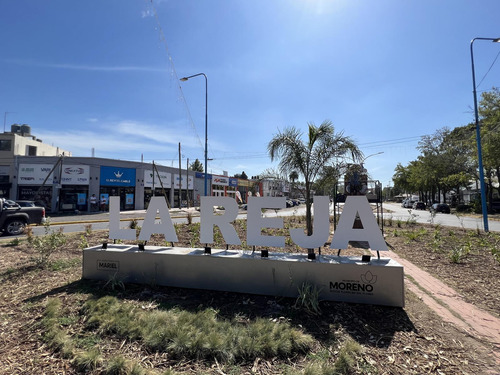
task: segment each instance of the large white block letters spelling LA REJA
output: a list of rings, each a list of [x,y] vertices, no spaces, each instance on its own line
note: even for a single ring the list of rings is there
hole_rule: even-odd
[[[292,241],[305,249],[323,246],[330,236],[329,197],[314,197],[313,234],[307,236],[303,228],[289,229]],[[222,215],[215,214],[214,207],[224,207]],[[285,236],[263,235],[266,228],[283,229],[283,218],[263,217],[263,209],[286,207],[285,197],[249,197],[247,206],[247,233],[245,241],[251,246],[285,247]],[[109,238],[136,240],[135,229],[120,228],[120,197],[110,197]],[[156,221],[156,217],[160,221]],[[201,197],[200,242],[214,243],[214,227],[218,227],[224,241],[230,245],[241,245],[233,222],[238,216],[238,204],[230,197]],[[356,218],[362,228],[353,228]],[[163,197],[152,197],[144,223],[139,233],[140,241],[149,241],[153,234],[163,234],[166,241],[177,242],[177,234]],[[366,241],[372,250],[387,250],[375,216],[365,196],[347,197],[339,224],[333,234],[330,248],[346,249],[350,241]],[[365,275],[369,279],[369,275]],[[372,280],[372,278],[370,278]]]

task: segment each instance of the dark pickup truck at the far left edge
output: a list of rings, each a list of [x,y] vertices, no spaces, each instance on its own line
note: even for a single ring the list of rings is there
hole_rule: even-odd
[[[0,230],[7,235],[23,234],[28,224],[45,222],[45,208],[21,207],[16,202],[0,198]]]

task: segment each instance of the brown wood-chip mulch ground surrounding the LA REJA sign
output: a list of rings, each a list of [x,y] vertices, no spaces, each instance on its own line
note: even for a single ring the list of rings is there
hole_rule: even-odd
[[[193,238],[196,237],[197,230],[194,225],[178,226],[177,233],[180,239],[178,245],[194,245]],[[402,233],[404,230],[418,230],[418,227],[397,230]],[[386,230],[389,244],[407,259],[410,259],[412,254],[417,258],[425,258],[423,254],[427,254],[427,251],[436,253],[433,249],[426,250],[424,237],[415,243],[405,243],[405,235],[395,233],[393,236],[390,231],[391,229]],[[91,234],[68,236],[65,250],[54,254],[51,267],[47,270],[33,267],[30,260],[33,251],[24,242],[1,248],[0,281],[3,286],[0,292],[1,374],[76,373],[69,360],[61,358],[41,340],[39,322],[44,303],[49,297],[61,299],[68,316],[75,319],[74,325],[70,324],[68,330],[77,332],[81,324],[79,309],[83,301],[91,296],[106,294],[116,295],[144,308],[151,306],[152,302],[164,308],[177,306],[193,311],[200,306],[212,307],[219,312],[222,319],[235,315],[242,319],[255,317],[287,319],[315,339],[315,349],[308,355],[298,355],[294,358],[258,358],[249,363],[237,364],[203,362],[190,358],[173,359],[162,353],[150,353],[144,350],[139,342],[120,341],[113,337],[96,343],[106,353],[119,352],[127,358],[137,359],[144,368],[156,370],[170,368],[179,373],[283,374],[285,370],[303,370],[320,357],[333,362],[342,343],[349,338],[357,341],[363,348],[352,373],[493,374],[497,368],[488,355],[491,347],[456,329],[453,324],[444,322],[420,298],[408,290],[404,309],[323,302],[322,315],[309,316],[303,311],[294,309],[295,301],[287,298],[134,285],[127,285],[125,291],[112,291],[104,288],[105,283],[80,280],[81,247],[97,245],[106,240],[107,232],[94,231]],[[155,237],[148,244],[163,245],[164,241],[160,237]],[[412,252],[407,248],[420,248],[420,251]],[[287,246],[286,251],[298,252],[299,249]],[[336,250],[323,248],[322,253],[336,254]],[[343,252],[344,255],[364,253],[367,253],[367,250],[363,248],[351,248]],[[486,250],[474,250],[473,254],[476,253],[487,258]],[[442,254],[445,254],[445,251],[442,251]],[[492,257],[491,254],[489,256]],[[455,264],[444,255],[436,259],[439,259],[436,262],[442,262],[439,268],[441,272],[451,273],[440,277],[447,285],[450,285],[448,280],[453,279],[452,272],[458,272],[456,269],[464,270],[469,264],[456,264],[455,268]],[[467,257],[465,261],[472,262]],[[498,276],[496,268],[498,265],[491,263],[491,267],[492,269],[486,272],[492,274],[497,272]],[[483,275],[477,273],[484,271],[484,267],[468,269],[476,275],[467,275],[466,280],[483,280]],[[498,281],[492,287],[497,288]],[[470,294],[474,294],[473,291]],[[467,293],[463,295],[466,298]],[[473,296],[467,300],[484,309],[497,308],[498,313],[496,298],[489,299],[487,303]]]

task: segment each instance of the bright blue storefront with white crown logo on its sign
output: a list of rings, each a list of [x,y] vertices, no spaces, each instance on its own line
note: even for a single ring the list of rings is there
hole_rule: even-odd
[[[120,210],[135,209],[135,168],[101,166],[99,199],[109,209],[109,197],[120,197]]]

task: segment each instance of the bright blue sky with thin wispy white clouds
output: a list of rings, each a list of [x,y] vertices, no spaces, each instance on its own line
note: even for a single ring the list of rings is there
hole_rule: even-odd
[[[75,156],[257,175],[278,129],[331,120],[385,186],[419,137],[473,120],[470,41],[500,1],[0,2],[0,114]],[[476,42],[478,91],[500,44]],[[500,58],[499,58],[500,60]],[[493,66],[492,66],[493,64]],[[490,69],[491,67],[491,69]],[[489,70],[490,69],[490,70]],[[5,113],[6,117],[5,117]]]

